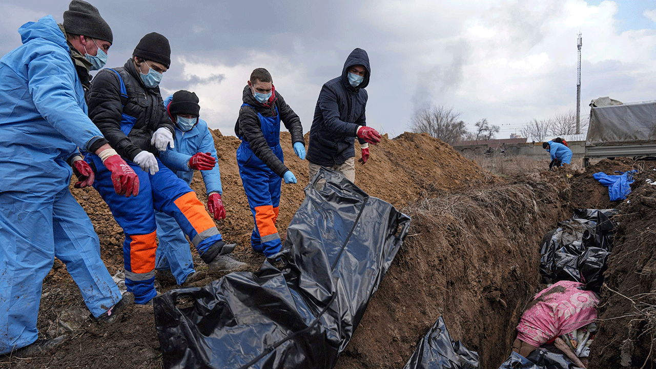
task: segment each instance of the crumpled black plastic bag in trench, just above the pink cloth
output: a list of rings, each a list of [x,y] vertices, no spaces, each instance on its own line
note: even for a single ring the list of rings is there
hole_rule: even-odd
[[[587,290],[598,292],[613,248],[615,224],[609,217],[616,213],[617,209],[578,209],[572,219],[547,232],[540,248],[543,282],[583,282]]]

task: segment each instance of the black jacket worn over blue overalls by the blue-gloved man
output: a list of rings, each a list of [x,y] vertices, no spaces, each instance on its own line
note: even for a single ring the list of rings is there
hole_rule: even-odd
[[[275,106],[277,106],[278,112],[280,113],[280,120],[285,124],[289,133],[291,133],[292,144],[294,142],[302,142],[303,146],[305,146],[305,140],[303,139],[303,127],[300,124],[300,118],[298,118],[294,110],[291,110],[278,91],[276,91],[275,97],[274,104],[264,106],[258,100],[255,100],[251,87],[246,85],[241,100],[250,106],[242,106],[239,109],[239,118],[237,118],[237,123],[235,124],[235,133],[237,137],[241,137],[249,143],[253,154],[258,159],[262,160],[266,166],[282,178],[289,169],[278,159],[266,142],[264,134],[262,134],[262,128],[260,127],[260,117],[257,114],[260,113],[264,117],[274,117],[276,116]]]

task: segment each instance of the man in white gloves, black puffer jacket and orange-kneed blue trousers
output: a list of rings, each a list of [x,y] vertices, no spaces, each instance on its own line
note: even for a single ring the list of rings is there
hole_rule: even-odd
[[[148,33],[121,68],[104,69],[89,91],[89,117],[139,177],[139,194],[116,196],[108,168],[94,156],[85,160],[94,168],[94,188],[123,228],[125,286],[134,302],[150,303],[155,291],[155,210],[174,217],[211,272],[243,270],[232,259],[236,244],[226,244],[214,220],[190,186],[155,156],[175,147],[175,127],[159,93],[159,81],[171,64],[169,40]]]

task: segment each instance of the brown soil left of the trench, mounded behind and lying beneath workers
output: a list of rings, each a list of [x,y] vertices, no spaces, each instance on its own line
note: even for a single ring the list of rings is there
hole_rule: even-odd
[[[239,140],[218,131],[213,134],[227,213],[227,219],[216,224],[226,240],[237,242],[236,258],[256,271],[263,257],[249,246],[253,218],[234,154]],[[296,185],[282,185],[277,225],[284,236],[303,200],[308,167],[293,154],[289,133],[281,134],[281,142],[287,166],[298,179]],[[479,351],[482,368],[496,368],[510,353],[514,326],[525,303],[543,288],[538,271],[542,236],[558,221],[571,217],[576,207],[617,207],[609,202],[607,189],[592,179],[592,173],[624,171],[631,169],[632,162],[602,161],[586,171],[560,169],[501,179],[439,140],[404,133],[396,139],[385,135],[371,148],[369,162],[356,166],[356,185],[402,208],[413,222],[337,368],[400,368],[440,315],[455,339]],[[192,188],[205,202],[199,174]],[[72,192],[94,223],[108,270],[113,274],[122,269],[123,233],[108,207],[93,189],[72,188]],[[653,219],[642,211],[644,224],[653,225]],[[195,251],[193,254],[197,270],[206,269]],[[653,258],[651,261],[653,265]],[[613,270],[611,267],[609,272]],[[613,286],[622,288],[621,280],[613,278],[609,279],[615,281]],[[210,280],[194,285],[203,286]],[[175,286],[162,285],[159,291],[171,288]],[[45,278],[43,292],[38,326],[47,337],[61,311],[84,305],[59,261]],[[87,320],[56,350],[28,359],[0,360],[0,368],[161,366],[152,307],[140,306],[129,307],[121,321],[110,326]]]

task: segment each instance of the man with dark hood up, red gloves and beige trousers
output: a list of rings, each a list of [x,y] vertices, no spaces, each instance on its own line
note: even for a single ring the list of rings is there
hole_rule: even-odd
[[[369,144],[380,142],[379,133],[367,127],[365,106],[371,68],[369,56],[355,49],[346,59],[342,75],[327,81],[321,88],[310,128],[308,162],[310,179],[319,167],[338,171],[347,179],[356,179],[354,138],[358,137],[362,158],[369,159]]]

